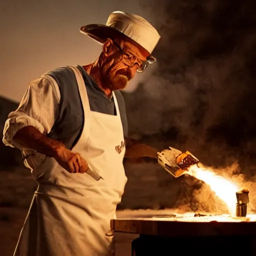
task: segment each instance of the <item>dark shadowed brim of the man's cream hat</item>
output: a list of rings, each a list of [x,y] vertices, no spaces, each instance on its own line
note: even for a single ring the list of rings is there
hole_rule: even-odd
[[[108,38],[112,40],[116,40],[117,38],[123,38],[125,40],[130,41],[134,44],[142,53],[147,53],[148,56],[155,59],[145,48],[143,48],[140,44],[132,40],[127,35],[118,31],[117,29],[106,26],[103,24],[89,24],[80,27],[80,32],[88,35],[92,39],[96,40],[99,43],[104,43]]]

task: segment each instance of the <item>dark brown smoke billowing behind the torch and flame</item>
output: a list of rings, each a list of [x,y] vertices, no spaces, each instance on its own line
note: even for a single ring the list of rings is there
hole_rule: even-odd
[[[147,70],[138,86],[123,93],[130,136],[159,150],[168,146],[189,150],[204,165],[237,179],[251,191],[254,202],[255,3],[141,0],[141,4],[161,38],[153,52],[157,65]],[[192,177],[178,179],[175,205],[225,210],[206,184]],[[166,181],[169,189],[174,183],[176,187],[174,180]]]

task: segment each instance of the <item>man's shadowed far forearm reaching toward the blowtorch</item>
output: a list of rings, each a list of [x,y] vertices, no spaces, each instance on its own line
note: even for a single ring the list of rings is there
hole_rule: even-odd
[[[158,150],[140,143],[131,138],[125,138],[125,157],[128,158],[140,158],[140,157],[152,157],[157,158]]]

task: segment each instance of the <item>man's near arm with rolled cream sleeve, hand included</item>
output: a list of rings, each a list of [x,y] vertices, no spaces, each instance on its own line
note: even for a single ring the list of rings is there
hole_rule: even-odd
[[[18,108],[8,115],[2,141],[20,150],[32,149],[54,157],[69,172],[84,172],[88,166],[79,154],[44,135],[50,131],[58,113],[59,97],[57,85],[51,83],[47,76],[32,81]]]

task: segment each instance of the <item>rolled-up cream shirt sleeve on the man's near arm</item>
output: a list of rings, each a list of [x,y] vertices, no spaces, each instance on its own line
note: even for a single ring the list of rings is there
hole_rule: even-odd
[[[30,82],[18,108],[9,113],[3,128],[3,143],[11,147],[22,147],[13,140],[15,133],[25,127],[34,126],[41,133],[51,130],[58,113],[60,92],[56,82],[43,75]]]

